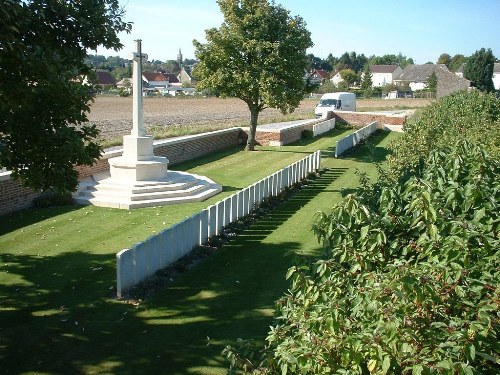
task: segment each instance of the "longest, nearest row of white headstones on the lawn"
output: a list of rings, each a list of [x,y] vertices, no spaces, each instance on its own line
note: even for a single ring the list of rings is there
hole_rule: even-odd
[[[250,214],[264,199],[278,195],[320,166],[321,151],[316,151],[132,248],[120,251],[116,254],[117,296],[121,298],[133,286],[205,244],[208,238],[220,235],[224,227]]]

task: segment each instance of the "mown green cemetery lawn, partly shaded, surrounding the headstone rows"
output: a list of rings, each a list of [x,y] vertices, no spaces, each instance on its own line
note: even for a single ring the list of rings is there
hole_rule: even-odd
[[[345,131],[282,148],[240,149],[179,165],[224,186],[202,203],[122,211],[58,207],[0,218],[0,362],[13,374],[223,374],[220,353],[238,337],[263,340],[286,290],[292,254],[320,247],[312,217],[375,176],[385,145],[335,159]],[[139,304],[113,297],[115,253],[224,195],[324,150],[321,178],[221,250]]]

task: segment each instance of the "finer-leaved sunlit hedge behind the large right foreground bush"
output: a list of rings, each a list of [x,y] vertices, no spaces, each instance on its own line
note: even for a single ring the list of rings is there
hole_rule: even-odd
[[[406,178],[422,167],[432,150],[468,140],[500,156],[500,100],[476,90],[459,92],[431,104],[391,147],[389,175],[406,171]]]

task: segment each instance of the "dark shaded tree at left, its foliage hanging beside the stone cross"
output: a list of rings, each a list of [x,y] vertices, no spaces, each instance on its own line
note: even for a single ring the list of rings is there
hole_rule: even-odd
[[[131,25],[118,0],[3,0],[0,7],[0,167],[35,190],[72,191],[75,165],[99,157],[86,124],[87,50],[118,50]]]

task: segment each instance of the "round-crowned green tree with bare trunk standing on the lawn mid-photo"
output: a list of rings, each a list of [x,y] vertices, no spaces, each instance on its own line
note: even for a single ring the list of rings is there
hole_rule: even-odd
[[[265,108],[292,112],[309,89],[304,83],[312,47],[300,17],[267,0],[218,0],[224,22],[206,30],[207,43],[196,40],[199,89],[237,97],[250,110],[246,150],[254,150],[259,113]],[[310,88],[312,89],[312,87]]]

